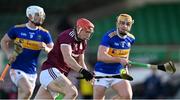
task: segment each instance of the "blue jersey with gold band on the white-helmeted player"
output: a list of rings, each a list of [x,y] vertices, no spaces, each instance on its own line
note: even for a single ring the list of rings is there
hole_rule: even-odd
[[[15,42],[20,41],[23,46],[23,52],[19,54],[12,63],[13,69],[19,69],[29,74],[35,74],[37,68],[38,56],[41,48],[40,42],[49,44],[52,42],[50,33],[42,27],[30,29],[26,24],[15,25],[7,35]]]

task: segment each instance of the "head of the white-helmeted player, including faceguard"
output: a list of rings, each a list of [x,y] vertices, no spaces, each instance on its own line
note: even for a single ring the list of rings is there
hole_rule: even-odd
[[[36,26],[42,25],[44,20],[45,20],[44,9],[42,7],[39,7],[39,6],[29,6],[26,9],[26,16]],[[35,16],[39,16],[40,17],[40,21],[36,21]]]

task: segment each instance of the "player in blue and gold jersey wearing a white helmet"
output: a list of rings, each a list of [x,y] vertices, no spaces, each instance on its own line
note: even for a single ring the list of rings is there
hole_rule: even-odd
[[[29,6],[26,9],[28,22],[15,25],[1,40],[2,50],[10,62],[10,77],[18,87],[18,99],[30,99],[37,78],[37,62],[41,50],[49,52],[53,47],[50,33],[41,27],[45,12],[39,6]],[[9,44],[20,42],[22,53],[15,57],[10,51]]]

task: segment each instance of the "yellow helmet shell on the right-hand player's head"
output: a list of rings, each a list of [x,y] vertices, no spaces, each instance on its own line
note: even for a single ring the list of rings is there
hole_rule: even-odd
[[[123,22],[130,22],[131,24],[134,23],[134,20],[132,19],[132,17],[128,14],[120,14],[117,18],[117,23],[119,23],[120,21]]]

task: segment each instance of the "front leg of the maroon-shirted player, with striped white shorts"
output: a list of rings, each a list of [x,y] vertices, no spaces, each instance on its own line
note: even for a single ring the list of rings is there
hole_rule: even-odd
[[[42,71],[40,74],[40,83],[53,98],[55,98],[58,93],[64,94],[64,99],[75,99],[77,97],[78,92],[76,87],[56,68]]]

